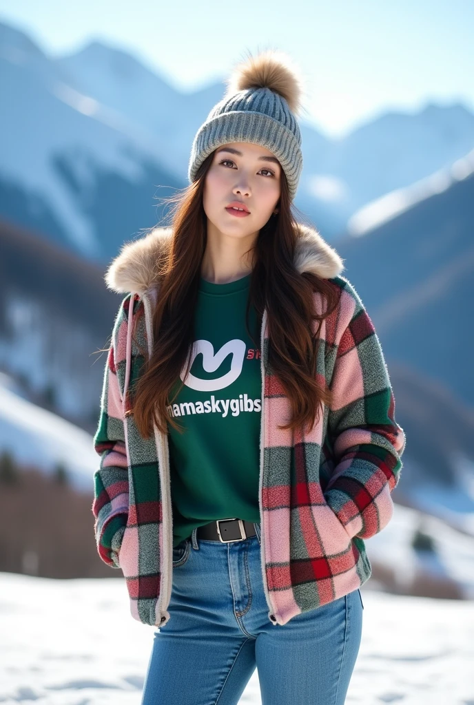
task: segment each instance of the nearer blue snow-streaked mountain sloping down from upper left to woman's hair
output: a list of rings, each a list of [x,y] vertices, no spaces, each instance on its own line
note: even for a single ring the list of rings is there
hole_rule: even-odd
[[[4,219],[104,262],[157,223],[157,185],[183,186],[163,166],[157,140],[81,93],[25,35],[1,23],[0,92]]]

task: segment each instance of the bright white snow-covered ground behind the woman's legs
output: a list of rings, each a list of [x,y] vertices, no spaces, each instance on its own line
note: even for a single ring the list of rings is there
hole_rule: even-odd
[[[474,601],[362,594],[347,704],[474,705]],[[155,630],[121,577],[0,573],[0,703],[139,705]],[[257,670],[241,703],[260,704]]]

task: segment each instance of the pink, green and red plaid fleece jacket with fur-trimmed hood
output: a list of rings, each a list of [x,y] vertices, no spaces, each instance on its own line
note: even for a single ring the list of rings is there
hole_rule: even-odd
[[[131,339],[152,350],[152,311],[159,293],[156,263],[171,228],[155,228],[126,243],[106,274],[126,293],[116,315],[104,370],[95,472],[95,538],[100,558],[120,568],[130,611],[147,625],[169,620],[172,515],[167,436],[143,440],[130,413],[128,389],[143,362]],[[363,302],[341,276],[343,261],[320,236],[299,226],[298,271],[312,271],[341,290],[322,325],[324,355],[317,374],[334,391],[331,408],[310,433],[281,431],[290,407],[267,369],[267,312],[262,320],[260,430],[261,560],[268,617],[284,625],[358,589],[371,575],[364,539],[391,519],[391,491],[399,482],[406,438],[395,421],[395,401],[382,348]],[[320,313],[322,301],[314,295]]]

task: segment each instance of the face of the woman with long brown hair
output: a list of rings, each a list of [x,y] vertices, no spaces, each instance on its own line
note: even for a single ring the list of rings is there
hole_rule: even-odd
[[[243,238],[267,223],[280,197],[281,166],[265,147],[252,142],[229,142],[214,152],[207,171],[202,205],[215,228],[224,235]],[[244,216],[229,204],[248,209]]]

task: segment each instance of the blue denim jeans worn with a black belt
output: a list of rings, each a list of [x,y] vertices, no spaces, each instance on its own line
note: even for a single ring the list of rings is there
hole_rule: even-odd
[[[154,633],[141,705],[236,705],[255,668],[262,705],[343,705],[358,656],[355,590],[285,625],[268,618],[257,536],[173,549],[170,618]]]

